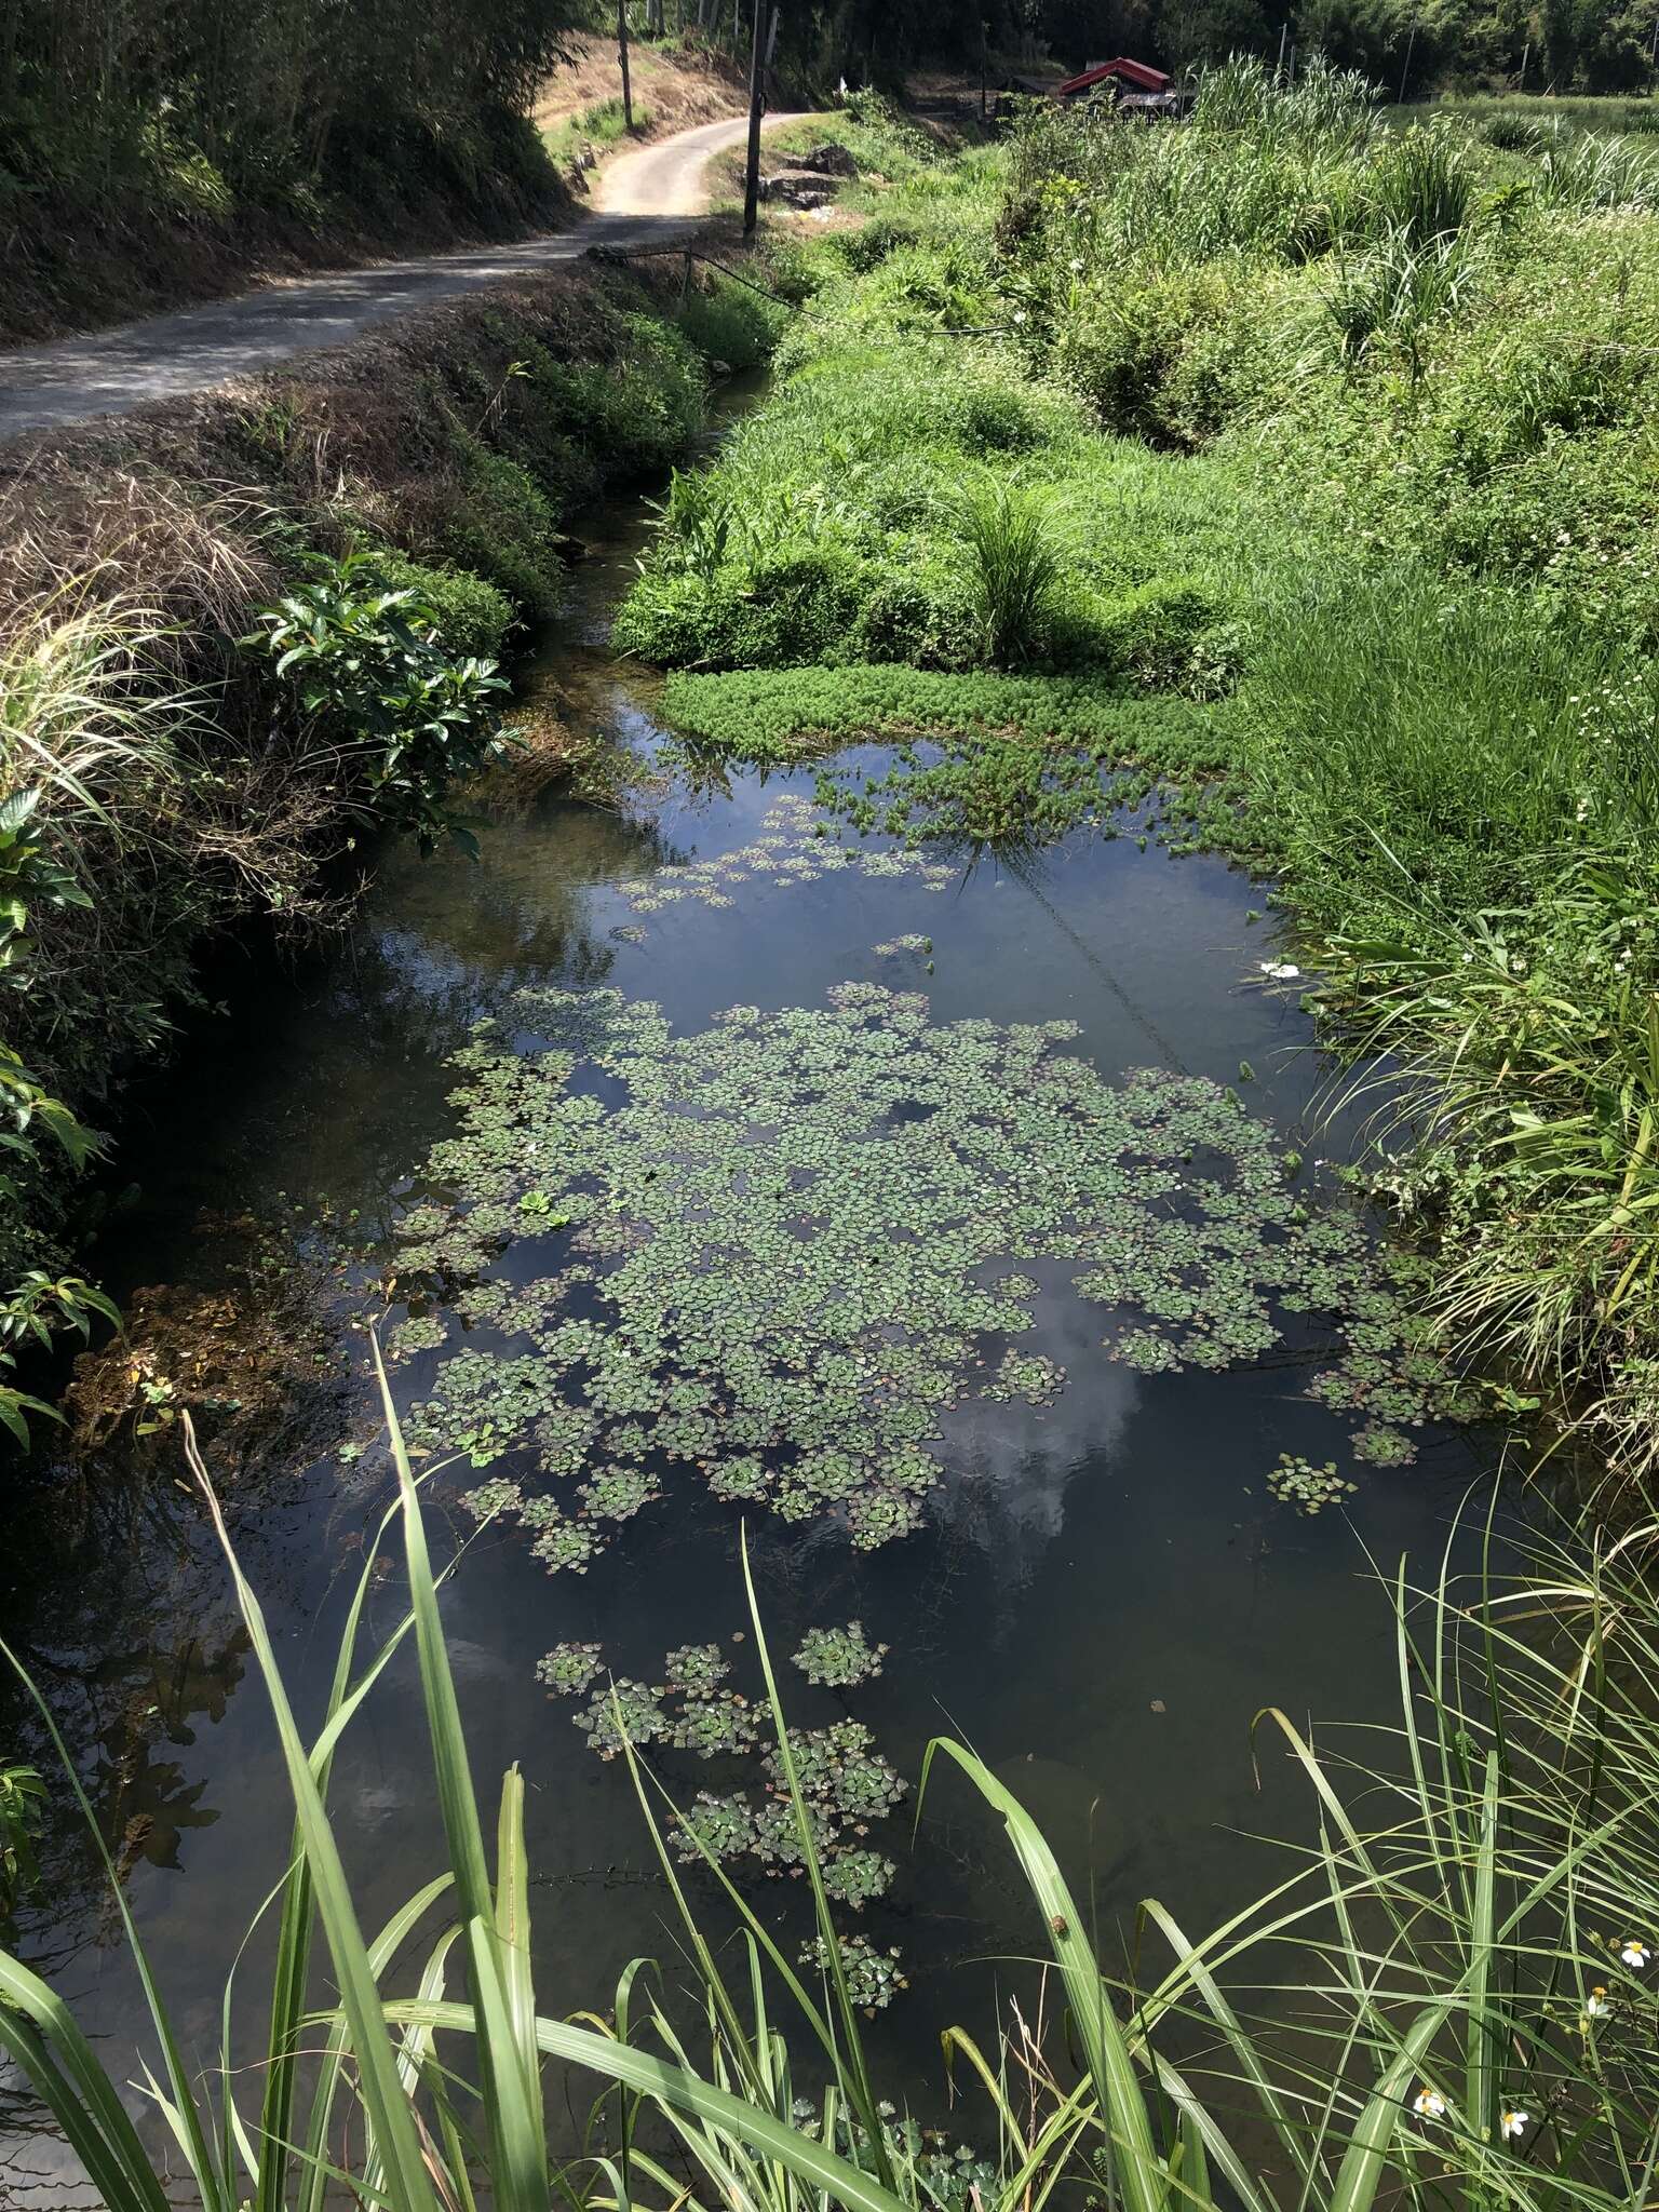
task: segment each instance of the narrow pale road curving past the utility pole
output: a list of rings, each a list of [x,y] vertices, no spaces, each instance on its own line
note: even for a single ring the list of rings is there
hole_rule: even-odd
[[[794,122],[770,115],[768,128]],[[699,124],[655,146],[613,161],[597,188],[597,212],[573,230],[518,246],[467,248],[418,261],[380,261],[274,283],[241,299],[153,314],[86,338],[0,354],[0,440],[33,429],[88,422],[126,414],[144,400],[208,392],[250,369],[268,369],[292,354],[343,345],[409,307],[427,307],[458,292],[575,261],[588,246],[644,246],[672,239],[703,208],[703,166],[734,146],[745,117]]]

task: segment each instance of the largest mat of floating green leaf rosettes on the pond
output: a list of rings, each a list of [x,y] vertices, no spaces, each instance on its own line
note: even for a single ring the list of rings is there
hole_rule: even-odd
[[[1298,1199],[1270,1128],[1194,1077],[1104,1084],[1055,1051],[1075,1024],[933,1026],[874,984],[679,1037],[615,991],[526,993],[513,1020],[553,1048],[487,1031],[458,1055],[460,1130],[425,1170],[453,1203],[409,1214],[398,1276],[465,1281],[460,1316],[502,1338],[456,1345],[411,1429],[493,1469],[473,1506],[549,1568],[584,1571],[675,1467],[865,1548],[905,1535],[951,1407],[1064,1387],[1018,1345],[1020,1261],[1068,1263],[1144,1371],[1338,1316],[1312,1387],[1387,1464],[1451,1407],[1396,1263]]]

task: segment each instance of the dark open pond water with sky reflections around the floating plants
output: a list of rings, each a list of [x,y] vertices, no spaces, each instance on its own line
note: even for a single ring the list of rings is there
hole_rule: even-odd
[[[544,657],[573,717],[650,757],[650,684],[613,668],[604,615],[637,546],[637,502],[591,518],[593,557],[573,571],[562,635]],[[573,703],[571,703],[573,701]],[[122,1230],[133,1283],[212,1267],[219,1214],[325,1199],[372,1243],[398,1214],[429,1144],[451,1126],[447,1055],[469,1024],[524,984],[606,984],[657,1000],[675,1029],[703,1029],[732,1002],[821,1006],[858,978],[925,989],[933,1020],[1073,1020],[1104,1077],[1135,1066],[1234,1082],[1287,1141],[1307,1135],[1321,1071],[1305,1018],[1259,989],[1272,953],[1248,925],[1261,889],[1217,860],[1170,860],[1133,838],[1075,834],[1040,863],[991,863],[942,891],[914,876],[832,874],[779,887],[750,878],[732,905],[684,898],[637,916],[617,883],[748,843],[781,792],[810,774],[734,774],[730,792],[666,783],[606,812],[560,799],[484,832],[482,865],[394,852],[349,940],[321,969],[268,982],[199,1040],[139,1139],[142,1199]],[[670,878],[672,883],[672,878]],[[641,942],[615,931],[646,927]],[[902,933],[933,940],[933,971],[872,951]],[[146,1157],[144,1157],[146,1155]],[[971,1402],[951,1418],[947,1482],[925,1528],[874,1553],[830,1524],[750,1517],[768,1626],[779,1652],[803,1628],[858,1615],[891,1644],[883,1677],[854,1692],[883,1752],[916,1776],[938,1730],[964,1734],[1024,1796],[1091,1889],[1102,1920],[1164,1898],[1188,1929],[1265,1887],[1274,1863],[1241,1832],[1307,1832],[1285,1763],[1256,1792],[1252,1714],[1385,1719],[1394,1703],[1387,1604],[1365,1548],[1429,1564],[1478,1460],[1467,1438],[1431,1438],[1416,1467],[1365,1471],[1349,1511],[1301,1520],[1263,1478],[1281,1451],[1345,1467],[1345,1425],[1298,1396],[1307,1367],[1274,1358],[1228,1374],[1141,1376],[1099,1349],[1102,1314],[1044,1298],[1022,1349],[1068,1369],[1046,1409]],[[363,1338],[343,1316],[349,1380],[323,1436],[250,1473],[230,1495],[303,1708],[323,1694],[363,1528],[387,1498],[376,1453],[341,1469],[330,1449],[365,1431]],[[431,1363],[403,1371],[418,1396]],[[159,1451],[168,1475],[177,1453]],[[465,1484],[460,1484],[465,1486]],[[549,1701],[535,1661],[597,1639],[617,1672],[661,1679],[684,1641],[743,1628],[737,1506],[701,1486],[626,1522],[586,1577],[549,1577],[515,1535],[482,1535],[447,1597],[453,1659],[487,1792],[511,1761],[529,1781],[540,1913],[542,2008],[604,2006],[639,1951],[672,1964],[666,1896],[619,1765],[599,1763]],[[465,1515],[453,1515],[458,1531]],[[7,1571],[22,1641],[49,1672],[71,1741],[131,1865],[128,1896],[168,1991],[204,2057],[219,1989],[246,1922],[276,1880],[288,1792],[263,1692],[241,1652],[199,1509],[170,1480],[91,1498],[62,1566]],[[396,1619],[396,1582],[376,1626]],[[732,1646],[741,1663],[748,1646]],[[785,1674],[792,1670],[785,1670]],[[841,1703],[787,1686],[814,1723]],[[686,1754],[659,1767],[677,1794],[732,1787]],[[334,1803],[376,1924],[436,1867],[436,1825],[418,1699],[394,1670],[347,1741]],[[909,1803],[880,1838],[900,1865],[863,1920],[898,1944],[911,1991],[880,2020],[894,2090],[938,2079],[938,2028],[989,2026],[987,1958],[1031,1953],[1040,1929],[1000,1832],[962,1785],[940,1781],[911,1851]],[[117,2077],[139,2033],[137,1993],[106,1942],[108,1911],[73,1854],[33,1940],[88,2024],[111,2037]],[[701,1885],[692,1885],[701,1896]],[[803,1924],[794,1885],[757,1887],[761,1907]],[[710,1913],[719,1907],[710,1891]],[[723,1924],[723,1922],[721,1922]],[[257,1989],[257,1975],[250,1975]]]

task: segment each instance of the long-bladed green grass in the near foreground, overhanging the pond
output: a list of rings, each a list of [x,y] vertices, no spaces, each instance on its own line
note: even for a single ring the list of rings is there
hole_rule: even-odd
[[[192,2197],[223,2212],[321,2212],[341,2194],[411,2212],[675,2208],[686,2179],[666,2130],[697,2177],[692,2201],[962,2212],[962,2183],[883,2099],[863,2042],[752,1584],[825,1971],[803,1978],[703,1851],[730,1931],[706,1927],[672,1847],[697,1843],[695,1827],[624,1734],[695,2002],[672,2006],[641,1958],[608,2013],[571,1991],[566,2013],[546,2008],[533,1978],[524,1778],[507,1772],[487,1825],[445,1648],[445,1577],[389,1396],[385,1413],[396,1498],[310,1743],[188,1444],[294,1801],[288,1874],[265,1900],[276,1953],[261,2046],[232,2046],[228,1989],[221,2048],[206,2077],[192,2073],[106,1860],[150,2011],[155,2048],[139,2064],[168,2141],[159,2154],[73,2008],[0,1953],[0,2048],[100,2201],[164,2212],[184,2172]],[[394,1535],[407,1613],[369,1652],[365,1595]],[[991,2051],[962,2028],[945,2035],[980,2093],[962,2132],[989,2139],[971,2212],[1035,2212],[1077,2190],[1113,2212],[1644,2201],[1659,2148],[1655,1542],[1659,1524],[1646,1522],[1617,1544],[1540,1544],[1513,1584],[1489,1575],[1469,1604],[1444,1577],[1420,1599],[1400,1577],[1398,1728],[1360,1739],[1352,1756],[1263,1714],[1259,1750],[1279,1745],[1312,1787],[1316,1843],[1287,1858],[1259,1905],[1199,1940],[1146,1900],[1144,1931],[1166,1964],[1141,1958],[1133,1978],[1102,1953],[1091,1911],[1018,1796],[971,1750],[938,1739],[922,1798],[947,1787],[949,1770],[1002,1823],[1031,1898],[1035,1958],[1064,2013],[1051,2048],[1029,2024]],[[409,1644],[445,1851],[369,1933],[332,1832],[330,1778]],[[84,1798],[82,1809],[91,1820]],[[314,1953],[327,1958],[325,1978]],[[549,2064],[595,2099],[591,2148],[566,2163],[549,2148]]]

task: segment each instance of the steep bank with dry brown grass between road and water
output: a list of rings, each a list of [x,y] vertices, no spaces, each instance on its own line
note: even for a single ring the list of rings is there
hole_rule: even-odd
[[[774,321],[732,285],[560,274],[9,456],[0,1358],[102,1312],[73,1170],[201,938],[325,927],[365,830],[445,832],[566,515],[684,453],[706,363],[759,358]],[[560,765],[562,730],[526,741]]]

